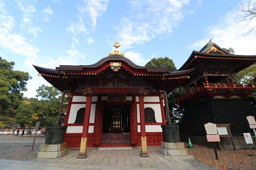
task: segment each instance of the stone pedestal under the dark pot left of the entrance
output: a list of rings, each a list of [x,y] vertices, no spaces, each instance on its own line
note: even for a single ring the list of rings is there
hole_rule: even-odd
[[[59,145],[40,145],[39,151],[36,152],[36,158],[61,158],[67,154],[67,143],[62,143]]]

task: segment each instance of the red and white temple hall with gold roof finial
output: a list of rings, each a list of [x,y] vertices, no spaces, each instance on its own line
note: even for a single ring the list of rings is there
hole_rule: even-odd
[[[65,142],[80,148],[80,158],[88,147],[160,146],[166,125],[164,97],[189,78],[193,68],[135,65],[118,49],[93,65],[60,65],[56,69],[34,66],[52,86],[68,95],[64,124]]]

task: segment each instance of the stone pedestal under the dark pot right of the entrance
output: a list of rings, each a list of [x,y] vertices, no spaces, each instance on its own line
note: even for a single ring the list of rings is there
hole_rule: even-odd
[[[160,153],[166,156],[188,156],[188,150],[182,142],[161,142]]]

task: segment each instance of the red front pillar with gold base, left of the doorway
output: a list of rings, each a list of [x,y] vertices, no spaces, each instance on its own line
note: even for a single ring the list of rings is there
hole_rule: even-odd
[[[84,116],[84,126],[82,128],[82,138],[80,144],[80,154],[79,158],[86,158],[86,147],[88,143],[88,129],[90,120],[90,108],[92,106],[92,96],[86,96],[86,107]]]

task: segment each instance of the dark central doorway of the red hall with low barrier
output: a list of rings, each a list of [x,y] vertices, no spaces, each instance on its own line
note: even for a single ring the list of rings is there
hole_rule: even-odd
[[[129,105],[105,105],[102,144],[130,143]]]

